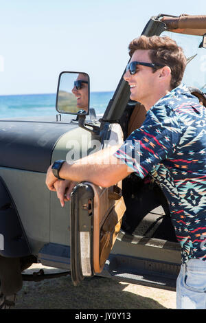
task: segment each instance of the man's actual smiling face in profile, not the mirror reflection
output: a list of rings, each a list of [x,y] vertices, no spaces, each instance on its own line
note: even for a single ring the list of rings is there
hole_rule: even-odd
[[[152,63],[149,57],[149,50],[137,49],[130,60],[130,62],[134,61]],[[153,73],[152,67],[143,65],[137,65],[137,72],[133,75],[130,74],[130,71],[126,71],[124,80],[130,85],[130,99],[146,104],[148,98],[152,96],[158,85],[158,78],[157,71]]]

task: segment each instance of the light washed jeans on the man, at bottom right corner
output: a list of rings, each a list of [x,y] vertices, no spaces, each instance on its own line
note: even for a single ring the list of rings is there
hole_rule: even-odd
[[[176,280],[176,309],[206,309],[206,261],[190,259]]]

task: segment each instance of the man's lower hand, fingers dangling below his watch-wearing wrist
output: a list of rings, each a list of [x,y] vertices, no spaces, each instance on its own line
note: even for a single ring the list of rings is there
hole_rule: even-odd
[[[54,190],[56,190],[57,197],[60,200],[60,204],[62,205],[62,207],[65,206],[65,201],[69,201],[71,191],[76,185],[76,181],[55,181]]]

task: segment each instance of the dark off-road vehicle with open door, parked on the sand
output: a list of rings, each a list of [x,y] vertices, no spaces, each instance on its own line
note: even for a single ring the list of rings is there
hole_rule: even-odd
[[[205,105],[206,16],[159,14],[142,34],[168,35],[183,47],[183,82]],[[22,279],[47,278],[43,273],[23,276],[33,263],[65,269],[60,274],[71,274],[75,285],[85,276],[99,275],[175,290],[180,245],[167,201],[154,183],[132,175],[111,188],[78,183],[65,208],[45,186],[54,161],[92,153],[97,148],[92,142],[101,143],[97,146],[102,149],[123,141],[130,120],[135,118],[136,128],[144,122],[144,108],[130,100],[123,76],[102,118],[89,103],[88,109],[76,109],[64,85],[73,87],[79,74],[60,74],[54,118],[0,120],[1,290],[14,294]],[[86,82],[89,89],[89,76]],[[1,295],[1,304],[13,303]]]

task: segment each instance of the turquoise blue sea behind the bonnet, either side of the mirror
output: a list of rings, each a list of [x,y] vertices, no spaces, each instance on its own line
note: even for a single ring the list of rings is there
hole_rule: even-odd
[[[91,92],[90,104],[97,115],[103,115],[111,92]],[[56,93],[0,96],[0,118],[39,117],[56,114]]]

